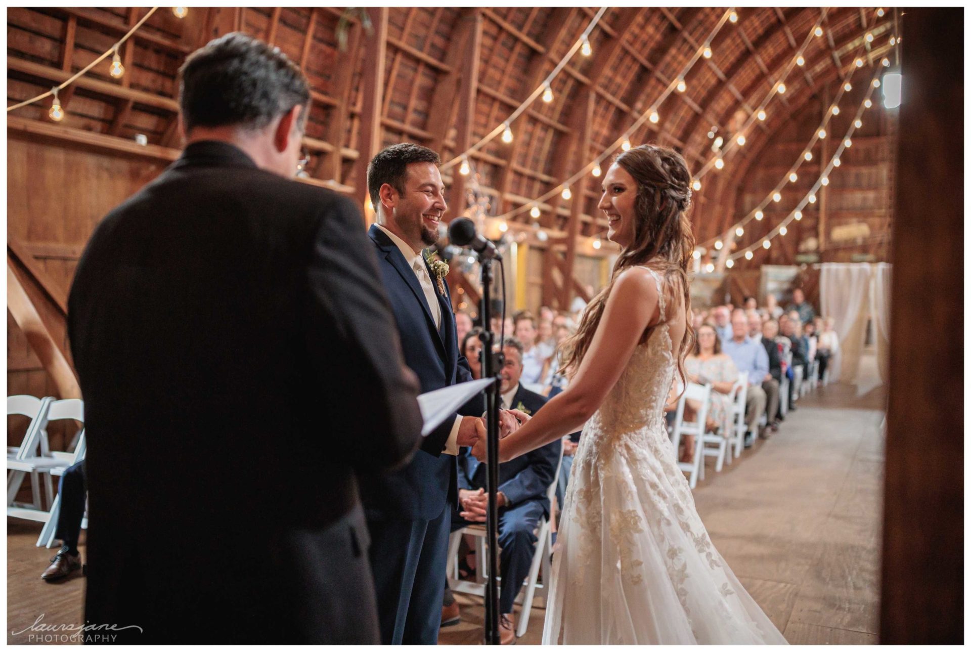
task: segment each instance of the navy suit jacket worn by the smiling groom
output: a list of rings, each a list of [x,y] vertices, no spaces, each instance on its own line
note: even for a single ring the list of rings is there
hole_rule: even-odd
[[[472,380],[469,364],[458,352],[448,285],[444,294],[438,292],[429,270],[442,311],[441,327],[436,328],[410,262],[377,224],[371,226],[368,236],[377,248],[378,267],[401,336],[405,363],[418,374],[422,394]],[[484,410],[480,395],[457,414],[480,416]],[[411,463],[388,475],[362,480],[361,498],[369,519],[431,520],[442,513],[446,501],[457,502],[455,457],[442,453],[454,421],[454,417],[446,419],[424,437]]]

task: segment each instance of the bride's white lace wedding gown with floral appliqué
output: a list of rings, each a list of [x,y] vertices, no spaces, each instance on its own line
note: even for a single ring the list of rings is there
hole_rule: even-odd
[[[669,326],[654,326],[586,422],[544,644],[786,643],[712,545],[676,463],[664,423],[672,349]]]

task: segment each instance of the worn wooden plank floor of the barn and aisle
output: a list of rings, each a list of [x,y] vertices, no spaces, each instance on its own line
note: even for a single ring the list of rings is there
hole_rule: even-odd
[[[872,377],[872,360],[863,366]],[[721,473],[710,461],[694,492],[728,566],[791,643],[877,642],[883,407],[884,388],[872,382],[820,388],[741,460]],[[42,615],[49,624],[82,619],[84,578],[41,581],[53,551],[34,547],[39,532],[8,519],[8,643],[45,642],[12,634]],[[462,623],[440,642],[480,642],[481,599],[456,598]],[[531,610],[520,644],[539,643],[543,617]]]

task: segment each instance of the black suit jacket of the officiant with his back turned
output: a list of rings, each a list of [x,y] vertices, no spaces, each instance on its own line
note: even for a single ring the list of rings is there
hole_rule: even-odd
[[[407,461],[421,420],[350,200],[189,145],[98,225],[68,320],[86,621],[142,628],[130,642],[373,639],[355,472]]]

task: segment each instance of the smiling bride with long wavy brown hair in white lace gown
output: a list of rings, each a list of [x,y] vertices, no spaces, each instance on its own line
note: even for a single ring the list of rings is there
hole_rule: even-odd
[[[664,404],[692,339],[685,159],[619,154],[598,208],[622,251],[586,308],[569,388],[499,443],[502,462],[583,427],[554,556],[544,643],[786,643],[712,545]],[[480,426],[480,429],[482,427]],[[485,430],[473,453],[485,459]]]

